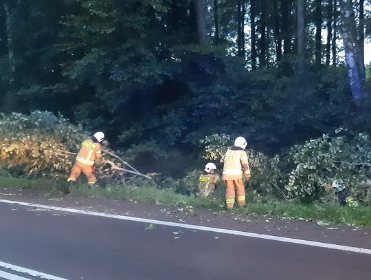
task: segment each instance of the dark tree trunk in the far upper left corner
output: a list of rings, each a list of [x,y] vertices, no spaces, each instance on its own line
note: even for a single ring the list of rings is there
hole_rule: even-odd
[[[8,3],[4,3],[5,12],[5,33],[7,37],[8,62],[10,65],[10,84],[14,83],[14,74],[16,71],[16,62],[14,59],[14,42],[13,42],[13,18],[14,8]]]

